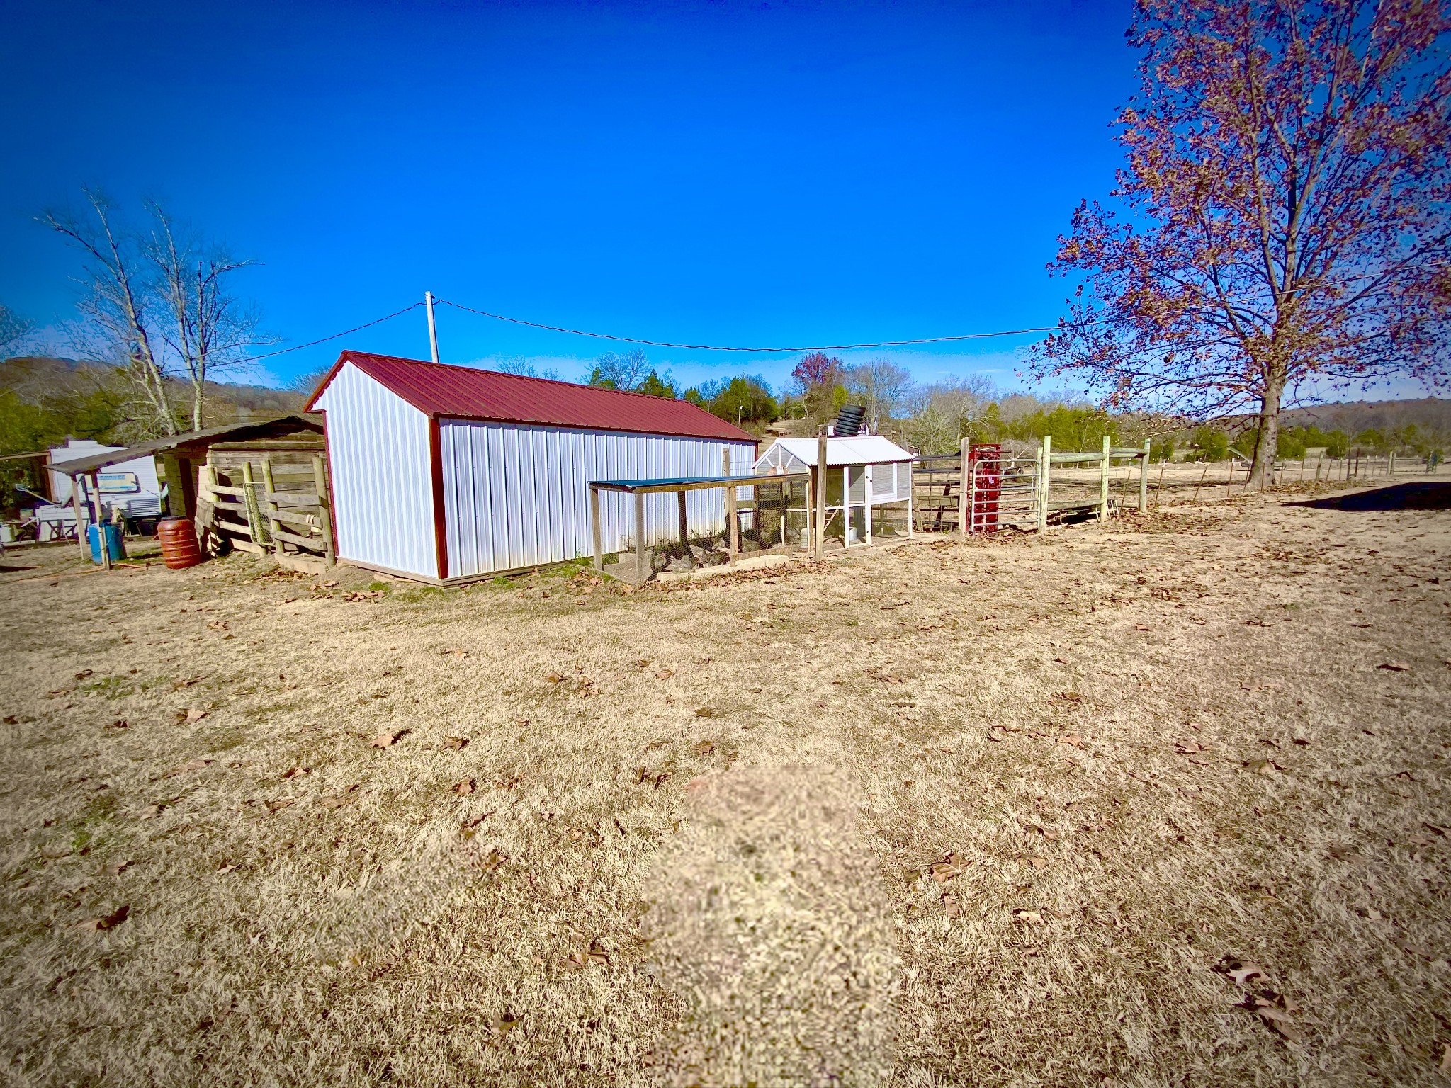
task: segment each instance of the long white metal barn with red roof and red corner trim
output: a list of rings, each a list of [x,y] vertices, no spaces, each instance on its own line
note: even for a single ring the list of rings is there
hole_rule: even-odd
[[[702,408],[614,389],[344,351],[308,411],[326,419],[338,557],[424,582],[463,582],[591,554],[592,480],[746,473],[756,440]],[[628,503],[602,506],[605,551],[633,544]],[[726,524],[718,490],[692,525]],[[678,532],[651,495],[646,540]]]

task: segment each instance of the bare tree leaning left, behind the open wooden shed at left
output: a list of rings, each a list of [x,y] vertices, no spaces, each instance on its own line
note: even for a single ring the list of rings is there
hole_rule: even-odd
[[[36,218],[84,254],[86,294],[77,303],[81,315],[77,347],[126,373],[147,408],[145,431],[177,434],[165,360],[154,328],[155,299],[136,252],[136,238],[115,222],[116,206],[104,193],[83,191],[91,215],[46,210]]]

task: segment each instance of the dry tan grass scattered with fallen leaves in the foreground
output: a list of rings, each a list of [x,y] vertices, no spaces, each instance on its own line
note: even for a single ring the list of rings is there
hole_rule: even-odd
[[[1281,503],[633,595],[12,553],[3,1078],[1444,1082],[1451,512]]]

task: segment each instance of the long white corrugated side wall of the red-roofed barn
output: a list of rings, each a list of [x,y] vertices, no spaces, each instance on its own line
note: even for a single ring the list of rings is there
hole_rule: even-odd
[[[329,421],[331,422],[331,421]],[[720,476],[721,450],[746,473],[756,448],[710,438],[441,419],[448,576],[469,577],[591,554],[589,483]],[[676,540],[675,495],[646,496],[646,543]],[[686,493],[691,532],[726,525],[723,490]],[[634,499],[601,492],[607,553],[634,538]]]

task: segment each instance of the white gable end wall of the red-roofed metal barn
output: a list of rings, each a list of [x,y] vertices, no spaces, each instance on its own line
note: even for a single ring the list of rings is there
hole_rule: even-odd
[[[338,556],[438,577],[428,416],[351,364],[316,406],[328,413]]]

